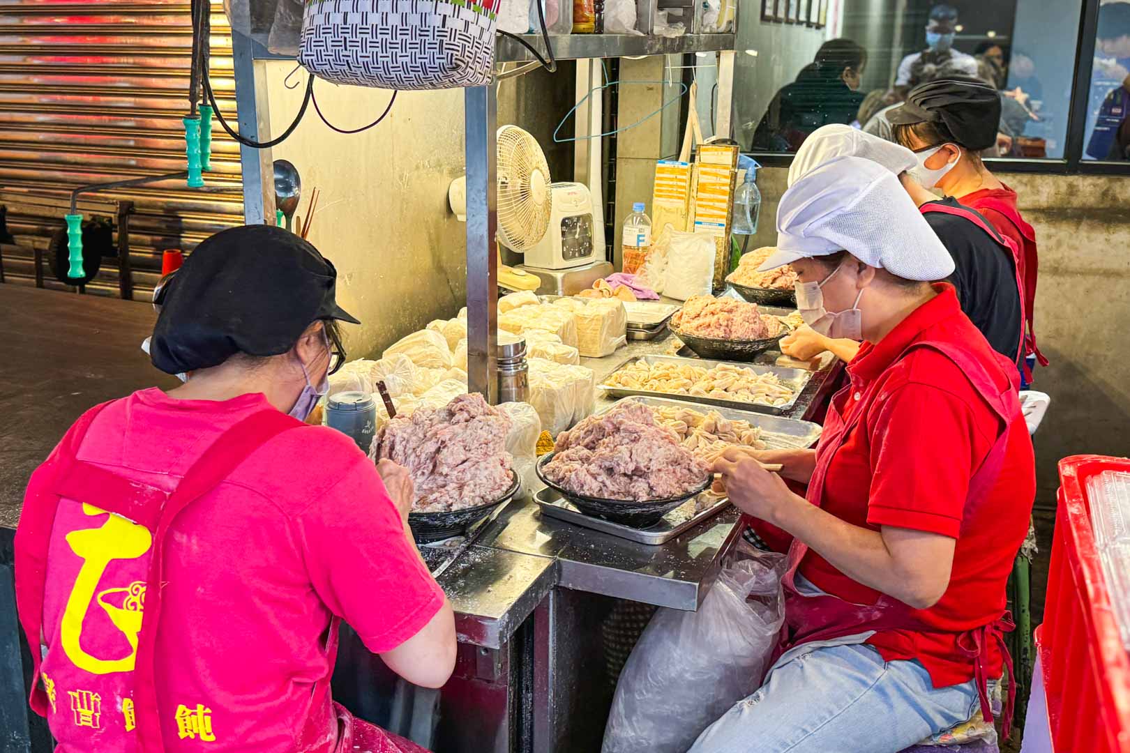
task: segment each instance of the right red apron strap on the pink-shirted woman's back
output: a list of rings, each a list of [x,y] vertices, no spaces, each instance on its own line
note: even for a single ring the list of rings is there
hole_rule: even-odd
[[[160,624],[164,590],[164,545],[168,527],[185,507],[215,489],[227,479],[253,452],[277,435],[303,426],[301,421],[275,410],[264,410],[243,419],[225,431],[188,473],[169,496],[153,537],[149,575],[146,580],[145,612],[138,636],[133,693],[137,715],[138,742],[141,750],[160,753],[160,717],[157,708],[156,646]]]

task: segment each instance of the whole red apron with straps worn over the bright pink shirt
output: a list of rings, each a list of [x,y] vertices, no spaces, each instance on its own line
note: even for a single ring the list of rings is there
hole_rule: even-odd
[[[128,723],[124,730],[125,734],[137,735],[137,748],[147,753],[160,753],[165,746],[157,709],[155,650],[163,589],[145,586],[164,584],[164,549],[168,528],[181,510],[227,479],[254,450],[282,431],[303,424],[275,410],[247,417],[216,439],[189,469],[176,490],[166,494],[160,489],[140,484],[78,459],[77,453],[87,430],[105,406],[106,404],[97,405],[87,411],[70,428],[55,454],[33,476],[24,500],[24,511],[16,533],[16,598],[20,624],[28,645],[33,647],[29,703],[35,712],[49,716],[49,712],[55,711],[54,684],[58,682],[62,686],[68,680],[64,676],[50,680],[45,677],[41,666],[42,651],[38,650],[43,636],[47,551],[59,502],[67,499],[90,505],[144,526],[151,536],[151,546],[147,553],[148,576],[145,584],[140,584],[139,604],[136,606],[142,615],[133,669],[103,674],[101,682],[103,697],[110,698],[110,693],[119,693],[131,700],[132,724]],[[325,649],[330,657],[337,653],[338,623],[339,620],[334,618],[330,625],[329,645]],[[88,674],[82,677],[84,672],[78,667],[70,672],[87,684],[99,680]],[[75,686],[73,682],[71,686]],[[407,745],[398,745],[383,730],[353,719],[345,709],[330,701],[329,678],[315,683],[310,709],[311,713],[296,741],[298,750],[368,750],[373,753],[416,753],[423,750],[407,741]],[[116,732],[121,733],[122,729],[119,727]],[[99,734],[110,732],[104,729]],[[99,738],[92,737],[93,746],[89,750],[98,746],[96,739]],[[122,745],[129,747],[128,743]]]

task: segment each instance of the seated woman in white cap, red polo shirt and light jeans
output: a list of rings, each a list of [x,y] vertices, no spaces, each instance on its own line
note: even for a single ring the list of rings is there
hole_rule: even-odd
[[[805,318],[864,342],[818,447],[753,454],[807,499],[749,453],[715,465],[734,505],[792,536],[790,631],[762,688],[692,751],[894,753],[992,719],[1035,494],[1016,368],[929,282],[953,259],[886,168],[817,167],[782,196],[777,231],[764,266],[793,265]]]

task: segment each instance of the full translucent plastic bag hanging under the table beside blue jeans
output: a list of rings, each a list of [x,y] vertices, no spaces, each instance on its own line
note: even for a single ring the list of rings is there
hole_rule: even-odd
[[[736,553],[697,612],[655,612],[620,674],[601,753],[685,753],[760,686],[784,622],[784,555],[744,543]]]

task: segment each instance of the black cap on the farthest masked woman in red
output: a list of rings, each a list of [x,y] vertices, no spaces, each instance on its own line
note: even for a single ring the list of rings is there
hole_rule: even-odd
[[[1000,95],[980,79],[937,79],[911,89],[887,120],[892,125],[941,123],[958,145],[980,151],[997,143]]]

